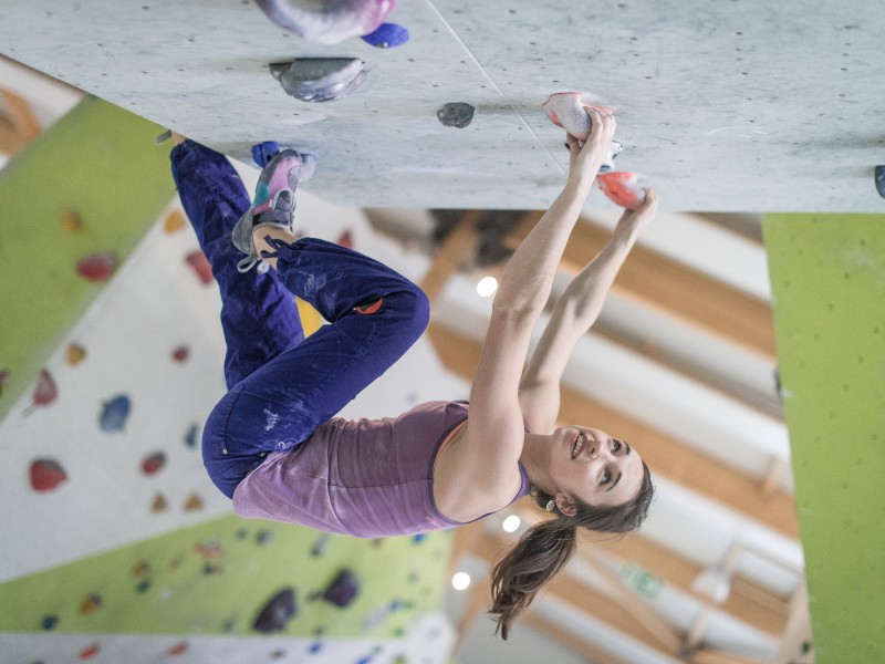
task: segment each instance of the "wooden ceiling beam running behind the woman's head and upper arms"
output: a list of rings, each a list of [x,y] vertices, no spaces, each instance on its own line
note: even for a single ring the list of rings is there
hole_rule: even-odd
[[[428,335],[440,361],[452,372],[472,381],[480,344],[433,322]],[[799,538],[795,501],[782,491],[766,494],[758,480],[650,428],[623,413],[600,404],[575,390],[562,390],[562,422],[592,424],[637,443],[644,460],[655,471],[709,497],[736,512],[747,515],[790,538]],[[642,442],[641,444],[638,442]]]

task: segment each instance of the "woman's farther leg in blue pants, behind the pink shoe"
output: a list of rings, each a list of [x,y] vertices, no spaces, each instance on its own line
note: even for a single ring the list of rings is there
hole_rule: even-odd
[[[292,293],[273,273],[240,274],[242,256],[230,243],[249,196],[227,158],[192,141],[170,154],[181,205],[221,291],[228,388],[304,339]]]

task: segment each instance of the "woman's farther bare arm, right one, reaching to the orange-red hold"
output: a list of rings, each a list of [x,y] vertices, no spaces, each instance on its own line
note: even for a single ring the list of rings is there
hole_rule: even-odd
[[[642,230],[654,219],[657,205],[657,195],[647,190],[645,203],[624,212],[612,239],[556,300],[520,383],[519,401],[530,430],[541,434],[555,427],[560,381],[569,357],[598,318],[617,271]]]

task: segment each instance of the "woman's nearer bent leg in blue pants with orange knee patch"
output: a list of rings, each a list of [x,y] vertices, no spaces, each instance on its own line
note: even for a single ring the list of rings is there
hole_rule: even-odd
[[[306,440],[382,375],[429,318],[420,289],[371,258],[311,238],[272,242],[280,282],[330,324],[243,378],[210,415],[204,461],[228,496],[268,453]]]

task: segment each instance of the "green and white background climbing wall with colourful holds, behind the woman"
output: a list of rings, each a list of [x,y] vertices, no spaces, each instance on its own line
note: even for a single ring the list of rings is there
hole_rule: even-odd
[[[100,138],[90,134],[98,128]],[[449,533],[369,541],[244,521],[206,476],[201,425],[225,392],[220,302],[211,278],[195,268],[201,255],[171,197],[170,144],[154,145],[157,131],[90,100],[13,160],[0,183],[4,200],[27,198],[21,180],[52,194],[31,220],[51,238],[35,258],[52,278],[34,281],[20,269],[3,281],[4,297],[20,298],[22,313],[15,335],[3,331],[4,357],[22,359],[17,371],[37,363],[52,381],[50,391],[48,378],[32,371],[20,381],[27,387],[20,398],[11,391],[0,396],[8,411],[0,424],[4,661],[444,661],[451,647],[451,626],[440,613]],[[84,143],[97,149],[76,152]],[[148,154],[140,159],[138,153]],[[147,232],[101,284],[82,283],[72,264],[77,252],[56,246],[106,248],[102,240],[121,236],[124,246],[135,245],[137,232],[126,232],[113,214],[128,195],[110,176],[65,188],[69,169],[59,164],[74,155],[82,172],[122,170],[144,198],[166,200],[126,208],[133,229]],[[133,163],[137,169],[128,168]],[[242,172],[252,186],[256,169]],[[98,214],[84,199],[108,209]],[[70,236],[59,219],[67,208],[88,210],[82,230]],[[335,240],[346,232],[357,247],[384,253],[365,239],[371,234],[358,212],[304,197],[300,208],[315,220],[313,234]],[[330,216],[334,222],[324,221]],[[4,247],[19,251],[9,217],[2,229]],[[76,234],[90,242],[77,243]],[[67,311],[33,315],[54,301]],[[19,345],[30,336],[24,314],[33,317],[41,343]],[[322,323],[308,308],[304,314],[311,329]],[[389,383],[345,414],[393,415],[418,401],[464,396],[455,378],[433,391],[420,380],[435,362],[419,344]],[[337,606],[323,593],[345,570],[358,579],[358,593]],[[254,639],[258,615],[285,589],[294,592],[296,613],[278,612],[270,637]]]

